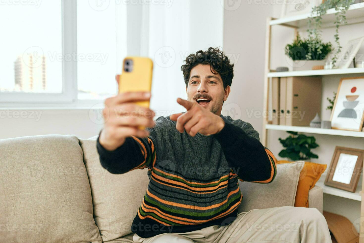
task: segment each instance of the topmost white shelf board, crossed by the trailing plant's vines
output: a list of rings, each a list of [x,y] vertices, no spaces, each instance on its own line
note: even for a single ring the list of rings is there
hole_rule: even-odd
[[[335,21],[335,13],[337,11],[334,8],[328,9],[326,15],[322,16],[322,23],[334,23]],[[302,15],[296,15],[296,16],[289,16],[289,17],[283,17],[280,19],[274,19],[269,21],[269,25],[288,25],[288,26],[294,26],[297,28],[306,27],[307,21],[311,13],[306,13]],[[346,13],[348,20],[360,20],[361,17],[364,17],[364,3],[356,3],[352,4],[347,13]],[[362,21],[362,20],[360,20]]]

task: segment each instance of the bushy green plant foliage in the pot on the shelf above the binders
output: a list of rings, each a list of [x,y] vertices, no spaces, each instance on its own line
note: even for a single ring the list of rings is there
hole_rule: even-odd
[[[318,42],[319,48],[311,48],[309,39],[301,39],[300,35],[293,40],[292,44],[287,44],[285,47],[285,54],[292,60],[325,60],[327,55],[332,51],[331,42],[323,43],[321,40]],[[310,54],[309,54],[310,53]]]

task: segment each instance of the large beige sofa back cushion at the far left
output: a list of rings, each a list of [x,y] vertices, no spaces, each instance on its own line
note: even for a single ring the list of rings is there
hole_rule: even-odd
[[[1,242],[101,242],[76,136],[0,140]]]

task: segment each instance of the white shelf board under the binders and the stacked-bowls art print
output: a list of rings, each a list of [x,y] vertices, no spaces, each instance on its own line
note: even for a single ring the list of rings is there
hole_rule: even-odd
[[[346,137],[364,137],[364,132],[346,131],[339,129],[311,128],[309,126],[284,126],[266,124],[265,128],[269,130],[293,131],[301,133],[328,134]]]

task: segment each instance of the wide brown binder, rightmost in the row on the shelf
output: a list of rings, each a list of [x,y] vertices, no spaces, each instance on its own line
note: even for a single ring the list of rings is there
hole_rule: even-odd
[[[321,116],[321,77],[286,78],[287,126],[309,126],[316,113]]]

